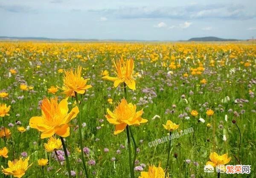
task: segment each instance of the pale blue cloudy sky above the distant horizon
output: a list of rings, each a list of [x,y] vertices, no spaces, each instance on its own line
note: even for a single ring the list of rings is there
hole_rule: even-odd
[[[0,36],[256,38],[256,0],[0,0]]]

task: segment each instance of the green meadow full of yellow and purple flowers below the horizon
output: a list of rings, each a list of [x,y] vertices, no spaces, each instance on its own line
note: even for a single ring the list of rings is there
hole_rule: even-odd
[[[254,178],[255,92],[253,42],[2,41],[0,176]]]

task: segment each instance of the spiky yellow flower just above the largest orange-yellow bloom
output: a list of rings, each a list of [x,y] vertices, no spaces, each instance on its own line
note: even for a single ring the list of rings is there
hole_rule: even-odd
[[[71,95],[75,95],[75,92],[79,94],[84,94],[86,89],[91,88],[91,85],[86,85],[87,81],[90,79],[84,79],[81,77],[82,67],[79,66],[75,73],[72,69],[65,71],[62,89],[64,90],[64,94],[67,97]]]

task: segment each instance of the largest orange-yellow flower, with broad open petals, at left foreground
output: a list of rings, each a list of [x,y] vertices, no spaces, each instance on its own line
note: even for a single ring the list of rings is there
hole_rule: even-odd
[[[61,137],[70,135],[68,123],[76,117],[79,113],[79,109],[76,106],[70,113],[67,113],[69,110],[67,99],[68,98],[61,100],[61,102],[58,103],[57,97],[51,98],[50,100],[45,98],[41,104],[42,116],[30,118],[29,126],[42,132],[41,138],[47,138],[54,134]]]

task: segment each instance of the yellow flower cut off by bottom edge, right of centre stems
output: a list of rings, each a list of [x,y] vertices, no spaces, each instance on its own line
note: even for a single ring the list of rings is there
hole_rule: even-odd
[[[165,175],[165,171],[162,167],[149,166],[148,172],[140,172],[139,178],[165,178],[169,177],[169,173]]]

